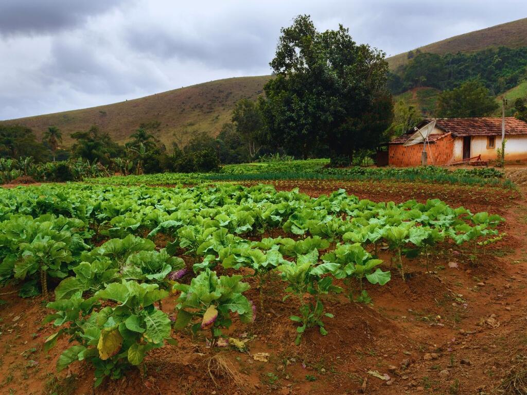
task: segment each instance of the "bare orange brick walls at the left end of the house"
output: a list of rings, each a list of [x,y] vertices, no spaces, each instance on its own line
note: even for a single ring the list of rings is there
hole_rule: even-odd
[[[388,165],[390,166],[421,166],[421,152],[423,144],[405,147],[403,144],[389,144]],[[446,135],[426,145],[428,164],[444,165],[452,162],[454,156],[454,139]]]

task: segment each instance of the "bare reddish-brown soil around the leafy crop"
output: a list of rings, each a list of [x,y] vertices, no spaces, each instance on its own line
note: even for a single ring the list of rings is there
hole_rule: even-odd
[[[511,370],[525,370],[526,201],[519,192],[394,182],[275,184],[279,189],[299,186],[313,196],[346,187],[371,200],[440,197],[474,212],[500,213],[506,218],[500,231],[508,236],[482,247],[476,265],[469,259],[470,251],[454,245],[438,249],[430,274],[419,259],[405,260],[409,273],[405,282],[392,269],[392,281],[384,287],[366,286],[373,305],[330,295],[325,308],[335,318],[324,319],[329,333],[323,337],[311,329],[299,346],[294,344],[295,324],[289,320],[297,313],[297,304],[282,301],[284,286],[273,278],[266,284],[265,312],[258,311],[255,324],[235,320],[229,330],[232,337],[250,339],[247,352],[211,350],[202,337],[177,332],[173,336],[178,345],[149,354],[147,376],[130,371],[126,378],[104,383],[95,394],[344,394],[357,393],[366,378],[368,394],[474,394],[490,393]],[[387,268],[390,255],[386,251],[381,255]],[[247,279],[252,285],[248,296],[257,301],[251,280]],[[8,287],[3,292],[14,290]],[[54,377],[66,341],[49,354],[42,351],[43,340],[54,330],[51,324],[40,324],[47,313],[40,298],[25,300],[8,293],[0,299],[6,302],[0,306],[0,393],[10,389],[16,394],[45,393],[44,383]],[[175,295],[163,302],[163,309],[172,312],[174,300]],[[269,353],[268,362],[254,360],[258,352]],[[368,371],[388,374],[390,380]],[[68,375],[70,383],[64,379]],[[62,389],[71,384],[70,392],[58,394],[92,393],[93,372],[85,364],[76,363],[57,377]]]

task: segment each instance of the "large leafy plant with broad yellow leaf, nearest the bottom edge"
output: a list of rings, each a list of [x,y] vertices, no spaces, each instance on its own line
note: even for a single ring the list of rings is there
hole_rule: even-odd
[[[170,337],[170,319],[155,309],[153,303],[168,296],[157,284],[138,284],[135,281],[111,283],[94,297],[82,299],[75,294],[69,300],[57,300],[47,307],[57,312],[46,317],[62,327],[45,342],[54,347],[63,335],[76,342],[64,350],[57,360],[61,371],[74,361],[89,361],[95,368],[95,387],[105,377],[118,379],[130,366],[143,363],[148,351],[163,347]],[[94,309],[97,301],[110,301],[116,306]]]

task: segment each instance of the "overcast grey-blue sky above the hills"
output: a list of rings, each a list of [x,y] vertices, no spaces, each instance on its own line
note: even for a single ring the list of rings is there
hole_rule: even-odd
[[[525,0],[0,0],[0,120],[269,74],[310,14],[395,55],[527,16]]]

